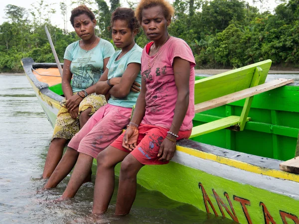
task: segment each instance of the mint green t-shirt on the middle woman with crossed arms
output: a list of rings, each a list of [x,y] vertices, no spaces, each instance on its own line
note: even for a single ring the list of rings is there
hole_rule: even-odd
[[[141,64],[141,54],[142,48],[135,44],[132,49],[126,53],[121,59],[117,60],[117,57],[120,55],[122,51],[117,51],[112,55],[107,63],[107,68],[109,69],[108,72],[108,79],[112,79],[115,77],[122,77],[124,72],[127,69],[127,66],[130,63],[139,63]],[[141,74],[139,72],[136,80],[139,84],[141,84]],[[116,98],[111,96],[108,100],[108,104],[119,106],[123,108],[133,108],[136,104],[137,98],[139,93],[134,93],[130,91],[129,95],[125,98]]]

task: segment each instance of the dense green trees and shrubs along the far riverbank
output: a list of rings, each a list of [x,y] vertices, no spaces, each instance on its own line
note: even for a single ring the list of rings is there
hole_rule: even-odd
[[[99,36],[111,40],[106,27],[111,12],[120,5],[119,0],[110,0],[111,7],[105,0],[90,1]],[[129,4],[134,7],[134,3]],[[273,14],[261,13],[241,0],[174,0],[173,5],[176,14],[169,32],[190,45],[197,68],[240,67],[265,59],[281,67],[299,67],[299,0],[278,5]],[[46,6],[41,0],[32,6],[34,10],[26,12],[24,8],[6,5],[7,21],[0,25],[1,72],[21,72],[20,59],[24,57],[32,57],[35,62],[54,62],[45,24],[61,61],[67,45],[78,39],[75,32],[50,24],[53,11],[42,11],[41,8],[49,8]],[[66,5],[62,2],[60,6],[65,15]],[[137,43],[143,47],[147,42],[141,32]]]

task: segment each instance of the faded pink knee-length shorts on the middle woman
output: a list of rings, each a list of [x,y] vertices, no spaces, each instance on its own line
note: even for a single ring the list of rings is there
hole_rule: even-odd
[[[129,124],[131,112],[131,108],[110,104],[101,107],[70,140],[68,147],[97,158]]]

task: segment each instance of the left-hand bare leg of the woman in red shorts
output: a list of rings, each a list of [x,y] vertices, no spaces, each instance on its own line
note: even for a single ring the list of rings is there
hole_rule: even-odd
[[[128,154],[112,146],[99,153],[92,213],[102,214],[107,211],[114,191],[114,167]]]

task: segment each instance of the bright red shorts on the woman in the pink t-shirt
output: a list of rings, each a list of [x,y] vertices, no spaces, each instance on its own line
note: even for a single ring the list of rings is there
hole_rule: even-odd
[[[160,149],[160,145],[167,135],[169,129],[154,126],[151,124],[140,124],[139,125],[139,136],[137,140],[137,147],[131,152],[139,162],[145,165],[160,165],[167,164],[168,162],[162,162],[158,159],[157,154]],[[178,138],[189,138],[192,130],[179,131]],[[110,146],[115,147],[119,150],[129,152],[123,145],[123,138],[125,133],[120,135]]]

